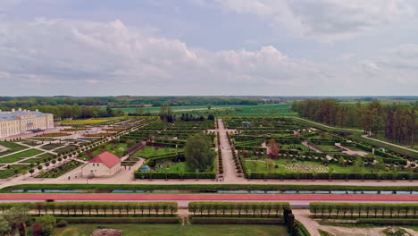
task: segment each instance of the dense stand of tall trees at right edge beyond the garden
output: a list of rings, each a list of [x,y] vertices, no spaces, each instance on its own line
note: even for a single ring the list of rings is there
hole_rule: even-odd
[[[382,134],[397,143],[414,146],[417,141],[418,102],[381,104],[374,100],[347,105],[334,99],[322,99],[294,102],[292,109],[316,122],[358,128],[373,135]]]

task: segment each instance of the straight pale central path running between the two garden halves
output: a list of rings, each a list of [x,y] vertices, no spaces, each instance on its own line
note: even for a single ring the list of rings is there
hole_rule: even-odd
[[[221,148],[222,151],[222,165],[223,165],[223,181],[225,183],[229,182],[245,182],[246,180],[241,175],[241,177],[238,176],[237,168],[235,166],[235,162],[232,158],[232,150],[230,147],[230,141],[228,140],[227,132],[229,130],[225,129],[225,124],[223,123],[222,119],[218,119],[218,130],[219,132],[219,138],[221,142]]]

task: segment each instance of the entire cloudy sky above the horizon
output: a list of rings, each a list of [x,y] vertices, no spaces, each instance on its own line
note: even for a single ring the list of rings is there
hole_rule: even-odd
[[[0,0],[0,96],[415,95],[416,0]]]

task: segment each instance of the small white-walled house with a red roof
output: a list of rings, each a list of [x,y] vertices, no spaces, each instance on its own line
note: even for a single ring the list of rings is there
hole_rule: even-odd
[[[81,169],[83,177],[110,177],[121,170],[121,158],[110,152],[101,152]]]

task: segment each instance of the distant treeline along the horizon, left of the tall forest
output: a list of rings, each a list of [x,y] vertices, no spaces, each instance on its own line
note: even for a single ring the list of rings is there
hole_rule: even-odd
[[[141,105],[257,105],[282,103],[272,97],[0,97],[0,107],[30,108],[37,105],[111,105],[112,107]]]

